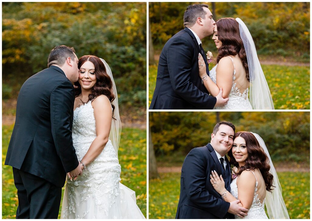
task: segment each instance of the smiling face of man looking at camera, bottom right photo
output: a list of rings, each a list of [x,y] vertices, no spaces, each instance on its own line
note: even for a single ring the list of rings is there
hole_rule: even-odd
[[[211,145],[221,156],[227,154],[233,145],[234,130],[221,124],[216,134],[211,134]]]

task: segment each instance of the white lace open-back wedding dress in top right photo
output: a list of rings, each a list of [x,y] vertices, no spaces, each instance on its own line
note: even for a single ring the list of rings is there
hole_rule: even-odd
[[[233,59],[232,57],[228,56],[232,62]],[[218,64],[217,64],[218,65]],[[217,84],[217,72],[216,72],[216,68],[217,65],[214,66],[211,71],[209,71],[209,77],[212,79],[212,81]],[[234,65],[234,62],[233,62]],[[233,73],[233,83],[232,83],[232,89],[231,92],[229,94],[229,101],[227,102],[226,105],[224,105],[223,107],[215,107],[213,109],[223,109],[223,110],[250,110],[252,109],[251,104],[249,102],[248,99],[248,92],[249,92],[249,88],[246,88],[242,93],[240,91],[240,89],[237,88],[236,86],[236,70],[235,70],[235,65],[234,65],[234,73]]]

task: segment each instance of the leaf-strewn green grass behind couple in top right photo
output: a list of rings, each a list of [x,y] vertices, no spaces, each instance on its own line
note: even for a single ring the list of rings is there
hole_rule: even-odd
[[[211,70],[214,65],[209,65]],[[275,109],[310,109],[310,67],[261,65]],[[157,65],[149,66],[149,105],[156,85]]]

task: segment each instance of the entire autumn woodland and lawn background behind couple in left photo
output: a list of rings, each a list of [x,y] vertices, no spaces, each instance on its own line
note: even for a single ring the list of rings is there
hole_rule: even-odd
[[[12,167],[4,165],[17,95],[57,45],[110,65],[123,126],[121,182],[146,216],[146,2],[2,2],[2,219],[15,219],[18,205]]]

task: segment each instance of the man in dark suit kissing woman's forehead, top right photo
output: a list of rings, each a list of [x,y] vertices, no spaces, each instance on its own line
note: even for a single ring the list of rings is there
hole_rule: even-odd
[[[198,70],[201,53],[209,76],[202,39],[213,34],[216,22],[208,5],[190,5],[184,12],[184,30],[170,38],[159,57],[156,87],[149,109],[212,109],[224,106],[228,98],[208,94]]]

